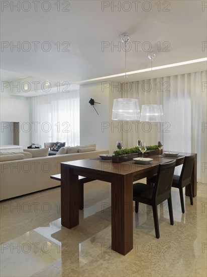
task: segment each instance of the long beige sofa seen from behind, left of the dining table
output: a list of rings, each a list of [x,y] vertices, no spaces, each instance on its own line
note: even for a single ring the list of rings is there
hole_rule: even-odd
[[[0,200],[60,185],[50,176],[60,173],[61,162],[96,158],[99,154],[109,153],[108,150],[82,151],[84,152],[37,158],[26,158],[30,155],[20,153],[17,154],[20,155],[20,158],[17,157],[19,160],[11,157],[13,160],[0,162]]]

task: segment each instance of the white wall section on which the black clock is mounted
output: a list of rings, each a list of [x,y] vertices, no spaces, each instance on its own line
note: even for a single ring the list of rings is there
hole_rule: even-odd
[[[114,83],[115,84],[115,83]],[[113,121],[112,108],[115,98],[121,98],[119,88],[112,88],[111,82],[100,82],[80,86],[80,144],[96,143],[97,149],[107,149],[112,154],[116,143],[122,140],[119,121]],[[88,103],[90,98],[95,102],[95,112]]]

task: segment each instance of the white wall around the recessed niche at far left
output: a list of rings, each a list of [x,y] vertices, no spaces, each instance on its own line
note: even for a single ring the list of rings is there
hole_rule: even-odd
[[[29,106],[24,97],[11,97],[1,91],[1,121],[20,122],[20,146],[29,146]],[[1,130],[2,131],[2,130]]]

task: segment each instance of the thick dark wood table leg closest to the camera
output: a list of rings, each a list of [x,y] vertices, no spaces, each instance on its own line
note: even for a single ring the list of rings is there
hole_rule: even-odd
[[[126,255],[133,249],[133,177],[112,176],[112,249]]]

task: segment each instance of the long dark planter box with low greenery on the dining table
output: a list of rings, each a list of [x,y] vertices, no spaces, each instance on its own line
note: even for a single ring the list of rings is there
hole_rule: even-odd
[[[134,158],[142,157],[142,153],[139,147],[116,150],[114,151],[114,154],[115,155],[112,157],[112,162],[114,163],[123,163],[130,161]],[[157,154],[159,154],[159,149],[157,145],[147,146],[147,151],[144,153],[144,157],[153,156]]]

